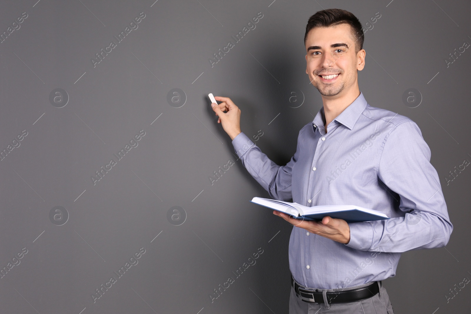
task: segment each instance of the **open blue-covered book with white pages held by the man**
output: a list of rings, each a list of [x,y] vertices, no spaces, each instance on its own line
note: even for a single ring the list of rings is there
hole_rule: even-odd
[[[348,223],[390,219],[381,211],[366,209],[355,205],[319,205],[308,207],[296,202],[290,203],[261,197],[254,197],[251,202],[281,211],[300,220],[321,221],[325,216],[343,219]]]

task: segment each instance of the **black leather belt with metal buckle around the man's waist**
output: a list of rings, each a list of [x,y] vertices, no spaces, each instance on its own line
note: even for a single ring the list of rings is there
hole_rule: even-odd
[[[382,283],[382,282],[380,282]],[[291,275],[291,285],[296,292],[296,296],[301,298],[304,302],[308,303],[324,303],[324,297],[322,295],[322,290],[311,291],[305,290],[300,287],[300,285],[294,281],[293,276]],[[346,291],[336,291],[336,292],[326,292],[327,302],[329,303],[348,303],[364,300],[375,296],[379,292],[378,282],[373,282],[369,286],[365,286],[358,289],[346,290]]]

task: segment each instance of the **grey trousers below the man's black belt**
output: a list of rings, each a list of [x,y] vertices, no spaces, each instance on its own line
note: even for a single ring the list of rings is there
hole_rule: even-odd
[[[378,282],[380,292],[371,298],[349,303],[331,303],[329,305],[307,303],[296,297],[291,287],[289,314],[394,314],[388,292]]]

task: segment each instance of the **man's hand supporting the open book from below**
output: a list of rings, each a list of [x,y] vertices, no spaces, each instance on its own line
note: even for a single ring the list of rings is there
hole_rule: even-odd
[[[318,234],[327,239],[331,239],[343,244],[348,244],[350,242],[350,227],[349,224],[343,219],[325,216],[322,221],[308,221],[294,219],[291,217],[291,215],[284,214],[277,210],[274,210],[273,214],[282,217],[290,224],[305,229],[310,233]]]

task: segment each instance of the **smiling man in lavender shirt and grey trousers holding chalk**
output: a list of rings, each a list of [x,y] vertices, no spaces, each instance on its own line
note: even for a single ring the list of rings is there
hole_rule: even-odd
[[[309,18],[306,73],[323,108],[300,130],[285,166],[241,132],[241,112],[230,98],[215,97],[222,103],[211,104],[242,163],[272,198],[306,206],[354,204],[390,217],[300,222],[273,211],[293,225],[290,313],[392,314],[382,280],[395,276],[401,252],[445,246],[453,230],[417,124],[368,105],[359,91],[363,41],[361,24],[348,11],[322,10]]]

